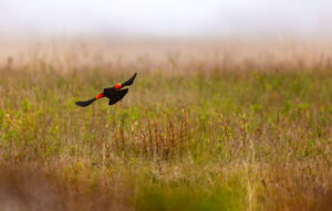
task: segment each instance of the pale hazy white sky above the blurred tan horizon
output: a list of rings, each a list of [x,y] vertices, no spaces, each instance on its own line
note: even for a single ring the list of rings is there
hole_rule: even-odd
[[[0,0],[0,33],[332,34],[331,0]]]

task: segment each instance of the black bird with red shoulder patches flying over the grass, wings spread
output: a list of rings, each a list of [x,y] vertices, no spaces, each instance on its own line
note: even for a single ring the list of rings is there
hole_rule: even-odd
[[[124,86],[129,86],[134,83],[134,80],[136,77],[137,73],[135,73],[128,81],[126,81],[125,83],[122,84],[116,84],[113,87],[108,87],[108,88],[104,88],[104,92],[98,94],[96,97],[92,98],[92,99],[87,99],[84,102],[76,102],[75,104],[77,106],[81,107],[85,107],[89,106],[90,104],[92,104],[94,101],[100,99],[102,97],[107,97],[110,98],[110,103],[108,105],[113,105],[116,104],[117,102],[120,102],[128,92],[128,88],[123,88]]]

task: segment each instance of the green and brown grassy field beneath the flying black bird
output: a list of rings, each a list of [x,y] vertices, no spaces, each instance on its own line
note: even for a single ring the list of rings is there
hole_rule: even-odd
[[[0,210],[332,207],[328,64],[262,71],[168,56],[137,64],[122,103],[81,108],[135,66],[14,61],[0,67]]]

